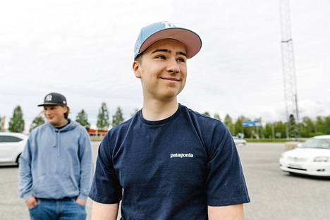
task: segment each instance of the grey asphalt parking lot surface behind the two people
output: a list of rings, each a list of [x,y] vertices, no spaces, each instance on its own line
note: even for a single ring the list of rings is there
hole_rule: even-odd
[[[92,142],[94,159],[98,145],[99,142]],[[251,203],[245,204],[245,219],[330,219],[330,180],[282,172],[278,160],[283,148],[283,144],[274,143],[238,147],[251,199]],[[17,167],[0,167],[0,195],[1,220],[29,219],[25,204],[18,197]],[[90,209],[89,201],[88,214]]]

